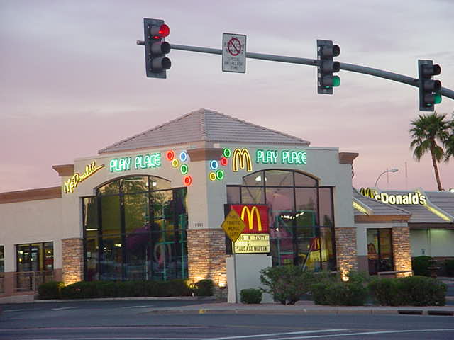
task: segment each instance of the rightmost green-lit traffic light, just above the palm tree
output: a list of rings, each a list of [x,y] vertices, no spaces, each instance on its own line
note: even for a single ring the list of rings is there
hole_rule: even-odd
[[[434,104],[441,103],[441,81],[432,77],[441,73],[441,67],[432,60],[418,60],[419,111],[433,111]]]

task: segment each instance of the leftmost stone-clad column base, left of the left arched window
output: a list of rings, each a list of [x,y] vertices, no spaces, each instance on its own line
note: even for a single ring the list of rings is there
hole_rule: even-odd
[[[62,239],[62,278],[65,285],[84,279],[84,240]]]

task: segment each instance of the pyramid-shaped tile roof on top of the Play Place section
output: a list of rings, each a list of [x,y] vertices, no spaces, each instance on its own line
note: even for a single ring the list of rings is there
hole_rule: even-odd
[[[99,154],[201,141],[301,146],[310,144],[298,137],[201,108],[105,147],[99,150]]]

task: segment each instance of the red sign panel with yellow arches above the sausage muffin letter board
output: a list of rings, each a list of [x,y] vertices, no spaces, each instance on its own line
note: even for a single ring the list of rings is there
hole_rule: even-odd
[[[267,234],[269,232],[268,206],[254,204],[232,205],[245,223],[243,234]]]

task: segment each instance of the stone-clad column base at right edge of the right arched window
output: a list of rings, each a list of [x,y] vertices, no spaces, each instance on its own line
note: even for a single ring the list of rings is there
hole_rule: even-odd
[[[336,227],[336,259],[338,271],[344,277],[349,271],[358,271],[358,256],[356,251],[356,228]]]

